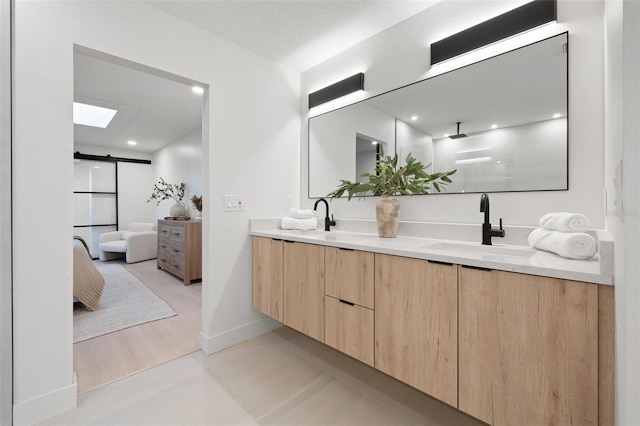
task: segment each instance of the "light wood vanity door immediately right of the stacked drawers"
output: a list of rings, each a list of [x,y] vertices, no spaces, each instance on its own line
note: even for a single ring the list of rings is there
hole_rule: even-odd
[[[457,406],[457,267],[375,257],[375,367]]]

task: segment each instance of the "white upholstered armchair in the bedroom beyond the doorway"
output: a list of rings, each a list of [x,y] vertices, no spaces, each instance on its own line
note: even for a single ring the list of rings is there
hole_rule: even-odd
[[[158,256],[158,232],[153,223],[130,223],[126,231],[100,235],[100,260],[125,257],[127,263],[142,262]]]

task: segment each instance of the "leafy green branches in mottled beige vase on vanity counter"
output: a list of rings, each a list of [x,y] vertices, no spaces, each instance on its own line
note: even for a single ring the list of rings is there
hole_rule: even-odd
[[[428,194],[428,190],[433,187],[440,192],[442,187],[451,183],[450,176],[456,170],[427,173],[427,167],[409,153],[405,158],[404,166],[398,162],[398,154],[393,157],[384,155],[376,160],[375,170],[362,175],[366,182],[351,182],[341,180],[335,191],[327,194],[330,198],[339,198],[345,192],[348,199],[354,195],[374,195],[380,198],[376,202],[376,222],[378,224],[378,235],[384,238],[394,238],[398,233],[400,224],[400,203],[396,195],[418,195]]]

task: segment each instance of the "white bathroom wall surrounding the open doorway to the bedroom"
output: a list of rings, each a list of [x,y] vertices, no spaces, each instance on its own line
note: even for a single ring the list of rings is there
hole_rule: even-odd
[[[282,214],[284,197],[299,190],[300,82],[264,57],[140,2],[14,6],[14,422],[20,425],[76,403],[74,43],[208,88],[201,333],[207,352],[273,327],[251,309],[248,220]],[[245,195],[246,210],[224,213],[223,194]]]

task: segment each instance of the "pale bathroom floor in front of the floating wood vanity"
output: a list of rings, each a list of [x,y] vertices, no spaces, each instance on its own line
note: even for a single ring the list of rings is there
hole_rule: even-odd
[[[282,327],[201,351],[80,395],[45,425],[438,425],[465,416]]]

